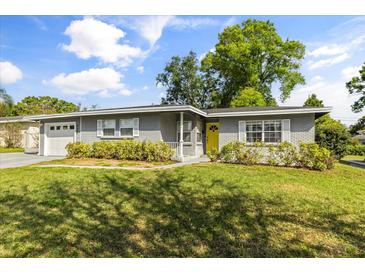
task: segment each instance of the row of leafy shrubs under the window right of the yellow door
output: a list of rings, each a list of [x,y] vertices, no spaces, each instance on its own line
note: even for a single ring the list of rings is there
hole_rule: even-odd
[[[271,166],[301,167],[313,170],[332,169],[334,159],[331,152],[317,144],[300,144],[299,148],[289,142],[277,146],[255,143],[247,146],[245,143],[231,142],[224,145],[220,152],[213,150],[208,153],[211,161],[234,163],[242,165],[268,164]]]

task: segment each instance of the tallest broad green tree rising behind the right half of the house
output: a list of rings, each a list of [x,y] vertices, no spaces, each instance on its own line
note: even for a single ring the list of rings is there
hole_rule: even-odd
[[[217,106],[228,107],[246,87],[260,91],[272,105],[273,83],[279,83],[282,101],[296,85],[305,83],[299,71],[304,53],[301,42],[282,39],[270,21],[249,19],[218,34],[218,43],[202,60],[202,69],[219,84]]]

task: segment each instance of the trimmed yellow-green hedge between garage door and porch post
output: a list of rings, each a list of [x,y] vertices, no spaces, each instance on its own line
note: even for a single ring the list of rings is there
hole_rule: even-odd
[[[77,142],[66,146],[68,158],[100,158],[164,162],[172,156],[171,148],[164,142],[135,140],[100,141],[92,145]]]

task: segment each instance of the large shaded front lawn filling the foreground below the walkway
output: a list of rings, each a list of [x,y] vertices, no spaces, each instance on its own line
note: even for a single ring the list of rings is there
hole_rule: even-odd
[[[365,170],[0,171],[1,257],[365,257]]]

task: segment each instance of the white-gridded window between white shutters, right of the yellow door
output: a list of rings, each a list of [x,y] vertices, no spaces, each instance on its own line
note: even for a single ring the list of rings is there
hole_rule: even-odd
[[[282,141],[281,120],[246,121],[246,142],[280,143]]]

